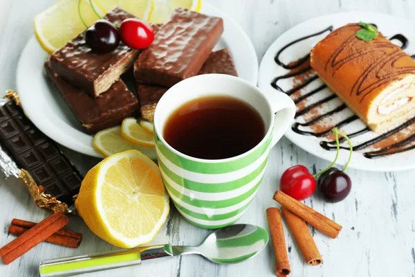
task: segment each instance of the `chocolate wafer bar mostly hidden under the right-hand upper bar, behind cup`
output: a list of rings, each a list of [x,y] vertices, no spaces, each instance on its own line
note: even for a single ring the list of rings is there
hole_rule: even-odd
[[[237,76],[229,49],[224,48],[210,53],[208,60],[203,64],[201,74],[219,73]],[[154,84],[142,84],[137,82],[137,95],[140,101],[141,117],[153,122],[154,111],[158,100],[168,90],[167,87],[160,87]]]

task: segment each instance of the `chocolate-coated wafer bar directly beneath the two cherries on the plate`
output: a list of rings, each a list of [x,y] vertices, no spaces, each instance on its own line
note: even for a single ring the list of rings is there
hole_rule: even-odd
[[[120,26],[124,19],[131,17],[134,16],[116,8],[108,12],[104,19]],[[154,31],[158,29],[157,26],[152,27]],[[81,33],[50,56],[50,66],[66,81],[97,97],[109,90],[113,82],[131,67],[138,53],[138,50],[131,49],[122,42],[109,53],[93,53],[86,45],[84,33]]]

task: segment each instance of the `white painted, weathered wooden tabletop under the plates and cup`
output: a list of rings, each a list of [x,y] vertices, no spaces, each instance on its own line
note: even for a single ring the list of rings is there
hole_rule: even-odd
[[[17,60],[33,34],[33,16],[54,0],[0,1],[0,91],[15,88]],[[331,12],[365,10],[404,17],[415,24],[414,0],[204,0],[224,10],[246,31],[257,50],[259,60],[268,46],[291,26]],[[57,130],[57,132],[59,132]],[[87,170],[98,160],[65,150],[77,166]],[[282,172],[295,164],[321,170],[328,163],[307,154],[286,139],[272,150],[263,184],[245,215],[243,223],[267,228],[265,210],[278,206],[272,200]],[[415,276],[415,170],[406,172],[364,172],[349,170],[353,181],[351,194],[338,204],[325,204],[312,197],[313,206],[342,224],[338,239],[332,240],[313,231],[324,264],[309,267],[286,231],[291,276]],[[161,244],[199,244],[209,231],[187,224],[172,209],[167,224],[152,242]],[[21,181],[0,181],[0,245],[14,237],[7,234],[10,220],[40,221],[48,215],[33,203]],[[114,249],[96,237],[79,217],[71,216],[70,229],[84,233],[79,249],[66,249],[42,243],[24,256],[3,265],[0,276],[38,276],[41,260]],[[239,265],[215,265],[200,256],[149,260],[138,267],[104,271],[88,276],[275,276],[271,244],[258,256]]]

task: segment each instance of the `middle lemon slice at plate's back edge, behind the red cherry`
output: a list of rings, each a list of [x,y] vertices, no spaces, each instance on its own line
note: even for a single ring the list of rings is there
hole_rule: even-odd
[[[113,8],[122,8],[138,18],[149,19],[151,10],[153,10],[153,0],[95,0],[98,5],[105,10],[113,10]]]

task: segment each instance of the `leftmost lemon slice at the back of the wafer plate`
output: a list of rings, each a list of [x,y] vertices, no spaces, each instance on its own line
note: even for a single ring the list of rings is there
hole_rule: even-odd
[[[102,12],[93,0],[95,10]],[[90,26],[99,19],[89,0],[81,1],[81,15]],[[53,53],[86,29],[78,15],[78,0],[60,0],[39,13],[33,19],[35,34],[42,48]]]

